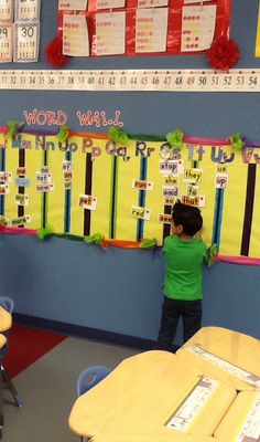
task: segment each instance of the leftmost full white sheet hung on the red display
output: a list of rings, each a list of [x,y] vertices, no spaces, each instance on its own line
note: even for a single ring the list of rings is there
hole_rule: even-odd
[[[89,56],[88,28],[85,14],[63,17],[63,54]]]

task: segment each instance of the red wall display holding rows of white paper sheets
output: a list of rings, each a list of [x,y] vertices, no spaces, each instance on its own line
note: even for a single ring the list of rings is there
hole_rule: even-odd
[[[58,1],[69,56],[202,53],[227,36],[231,0]]]

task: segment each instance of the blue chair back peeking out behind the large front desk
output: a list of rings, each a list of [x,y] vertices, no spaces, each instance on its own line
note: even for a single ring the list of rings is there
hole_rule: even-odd
[[[110,372],[110,368],[105,366],[91,366],[83,370],[77,378],[77,396],[86,393]]]

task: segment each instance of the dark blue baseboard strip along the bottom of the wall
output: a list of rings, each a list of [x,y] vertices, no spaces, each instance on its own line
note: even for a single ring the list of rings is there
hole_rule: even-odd
[[[56,332],[67,336],[93,339],[106,344],[123,347],[138,348],[141,350],[152,350],[155,341],[152,339],[139,338],[136,336],[121,335],[119,333],[100,330],[97,328],[83,327],[74,324],[66,324],[57,320],[45,319],[36,316],[13,314],[13,323],[28,327],[41,328],[47,332]]]

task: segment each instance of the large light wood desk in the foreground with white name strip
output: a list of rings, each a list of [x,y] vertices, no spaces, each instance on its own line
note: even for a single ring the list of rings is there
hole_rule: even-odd
[[[167,351],[139,354],[123,360],[76,400],[69,428],[95,442],[210,441],[237,391],[216,381],[214,391],[199,408],[193,394],[199,397],[201,390],[210,391],[205,388],[207,381],[202,380],[202,375],[205,373],[194,371],[182,358]],[[183,404],[188,410],[183,411],[187,418],[185,433],[167,427],[172,418],[177,425],[183,422],[180,418]],[[191,418],[194,406],[196,413]]]

